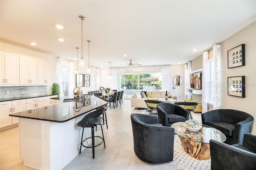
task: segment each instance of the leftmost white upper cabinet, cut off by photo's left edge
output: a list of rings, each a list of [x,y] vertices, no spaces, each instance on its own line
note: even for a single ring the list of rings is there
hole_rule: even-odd
[[[18,54],[2,52],[1,85],[17,85],[20,83],[20,57]]]

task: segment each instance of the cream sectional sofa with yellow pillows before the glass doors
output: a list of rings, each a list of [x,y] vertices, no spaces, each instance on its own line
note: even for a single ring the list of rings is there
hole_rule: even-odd
[[[137,108],[148,108],[146,103],[144,102],[144,100],[147,99],[160,99],[160,98],[165,98],[165,94],[166,91],[148,91],[151,92],[152,97],[146,97],[146,98],[142,98],[140,92],[136,92],[134,93],[134,95],[132,95],[132,99],[131,99],[131,107],[137,107]],[[144,92],[142,92],[144,93]],[[167,91],[167,95],[171,96],[172,99],[176,99],[176,96],[172,96],[170,91]]]

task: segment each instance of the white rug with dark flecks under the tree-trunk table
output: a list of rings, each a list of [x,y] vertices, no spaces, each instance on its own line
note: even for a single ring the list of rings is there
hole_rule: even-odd
[[[177,134],[174,136],[174,154],[173,161],[166,162],[171,170],[210,170],[211,158],[208,160],[196,160],[187,154],[182,147],[180,138]]]

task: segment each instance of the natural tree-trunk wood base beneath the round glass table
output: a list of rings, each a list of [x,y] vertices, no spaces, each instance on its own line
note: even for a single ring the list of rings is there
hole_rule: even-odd
[[[187,154],[197,160],[206,160],[210,158],[210,144],[195,142],[179,136],[182,146]]]

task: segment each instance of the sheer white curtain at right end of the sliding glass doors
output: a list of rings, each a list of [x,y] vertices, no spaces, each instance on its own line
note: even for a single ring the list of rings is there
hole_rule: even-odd
[[[162,66],[162,91],[170,91],[172,93],[171,67],[171,65]]]

